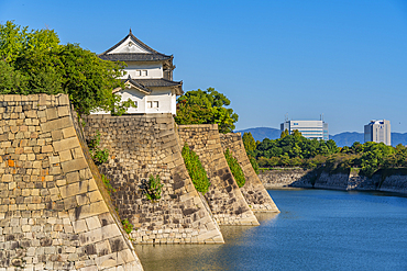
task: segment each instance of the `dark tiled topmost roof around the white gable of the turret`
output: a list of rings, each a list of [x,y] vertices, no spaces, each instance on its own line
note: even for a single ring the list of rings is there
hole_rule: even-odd
[[[124,43],[124,41],[128,37],[131,37],[134,43],[140,44],[144,49],[152,52],[151,54],[109,54],[111,50],[116,49],[119,45]],[[103,52],[102,54],[99,55],[99,57],[103,60],[112,60],[112,61],[131,61],[131,60],[139,60],[139,61],[156,61],[156,60],[165,60],[165,59],[170,59],[173,56],[164,55],[162,53],[156,52],[152,47],[147,46],[144,44],[142,41],[136,38],[133,33],[130,33],[127,35],[123,39],[121,39],[118,44],[116,44],[113,47],[110,49]]]

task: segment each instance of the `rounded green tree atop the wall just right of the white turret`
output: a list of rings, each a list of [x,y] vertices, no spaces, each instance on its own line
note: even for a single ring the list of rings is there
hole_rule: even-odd
[[[230,100],[213,88],[202,91],[191,90],[177,99],[177,124],[218,124],[220,133],[230,133],[238,122],[238,114],[230,105]]]

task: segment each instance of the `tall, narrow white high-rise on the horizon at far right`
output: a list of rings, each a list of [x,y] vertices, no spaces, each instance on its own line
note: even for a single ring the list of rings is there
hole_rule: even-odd
[[[371,121],[364,125],[364,142],[392,145],[391,122],[386,120]]]

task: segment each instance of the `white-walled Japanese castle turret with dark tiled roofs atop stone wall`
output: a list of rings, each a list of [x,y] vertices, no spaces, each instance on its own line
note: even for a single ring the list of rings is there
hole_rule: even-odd
[[[122,76],[124,89],[113,92],[122,101],[131,99],[136,109],[128,113],[172,113],[176,114],[176,97],[182,95],[183,81],[173,81],[173,56],[164,55],[148,47],[130,33],[99,58],[111,61],[124,61],[125,75]],[[94,112],[108,113],[108,112]]]

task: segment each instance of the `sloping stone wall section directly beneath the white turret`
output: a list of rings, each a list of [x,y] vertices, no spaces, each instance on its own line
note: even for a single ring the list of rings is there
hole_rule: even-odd
[[[101,148],[110,151],[99,169],[116,189],[111,197],[120,217],[134,225],[134,242],[223,242],[184,165],[170,114],[90,115],[84,121],[86,136],[99,131]],[[151,202],[144,189],[157,174],[162,199]]]

